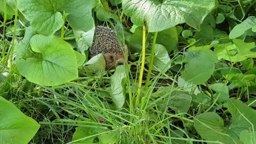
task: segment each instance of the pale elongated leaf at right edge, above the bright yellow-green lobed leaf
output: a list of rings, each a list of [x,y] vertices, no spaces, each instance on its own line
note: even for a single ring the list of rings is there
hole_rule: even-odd
[[[236,25],[229,33],[229,38],[234,39],[245,33],[248,29],[256,27],[256,17],[249,16],[246,20]],[[252,30],[253,30],[252,29]],[[253,30],[255,32],[255,30]]]

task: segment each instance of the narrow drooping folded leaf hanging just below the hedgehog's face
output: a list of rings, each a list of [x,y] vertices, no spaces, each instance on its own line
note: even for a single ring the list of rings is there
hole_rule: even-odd
[[[125,102],[125,86],[126,80],[125,65],[118,65],[115,69],[115,73],[110,77],[111,97],[119,109],[123,107]]]

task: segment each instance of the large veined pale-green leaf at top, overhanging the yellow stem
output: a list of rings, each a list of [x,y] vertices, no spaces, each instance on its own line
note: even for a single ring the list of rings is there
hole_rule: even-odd
[[[203,19],[215,6],[212,0],[123,1],[124,13],[131,16],[131,21],[137,26],[142,26],[146,20],[149,32],[159,32],[184,22],[199,30]]]

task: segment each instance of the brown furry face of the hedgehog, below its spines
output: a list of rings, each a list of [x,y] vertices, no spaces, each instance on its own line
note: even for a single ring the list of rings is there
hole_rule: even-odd
[[[104,58],[106,61],[106,70],[115,68],[115,65],[121,65],[125,63],[123,53],[105,53]]]

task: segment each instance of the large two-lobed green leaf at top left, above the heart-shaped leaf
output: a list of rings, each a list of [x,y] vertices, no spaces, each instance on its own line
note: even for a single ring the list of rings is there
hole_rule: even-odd
[[[88,31],[94,26],[91,16],[94,5],[94,0],[18,1],[19,10],[31,22],[33,29],[44,35],[53,34],[61,28],[63,11],[69,14],[67,20],[73,29]]]

